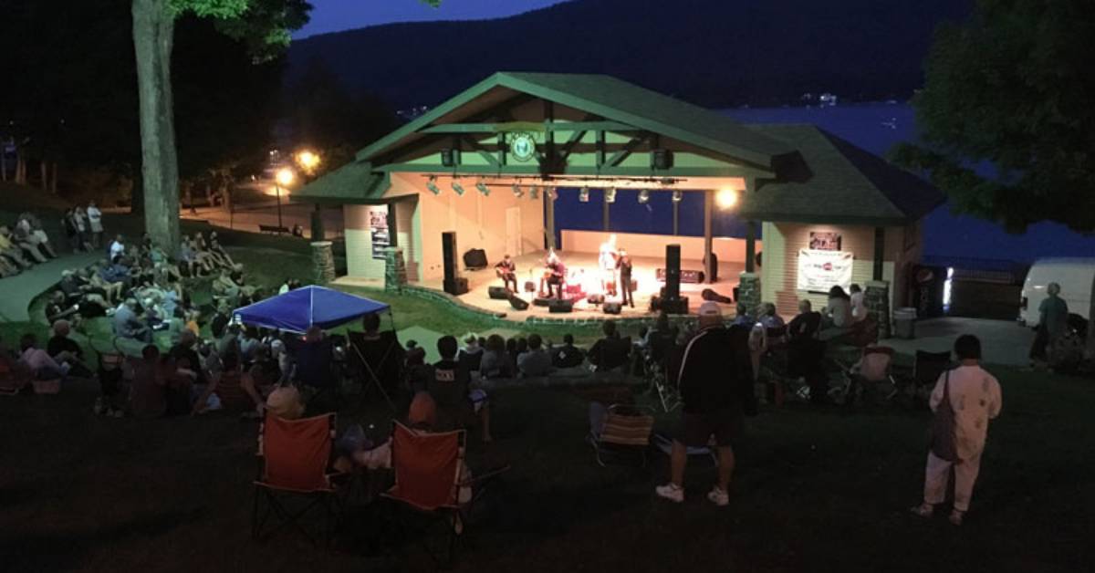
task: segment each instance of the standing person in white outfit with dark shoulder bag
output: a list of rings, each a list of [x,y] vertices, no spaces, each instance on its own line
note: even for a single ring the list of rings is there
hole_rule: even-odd
[[[981,341],[964,334],[955,341],[957,368],[943,373],[932,391],[930,405],[936,412],[948,389],[947,403],[954,412],[954,461],[943,459],[935,451],[927,452],[924,471],[924,501],[912,508],[921,517],[931,517],[935,506],[943,503],[950,482],[950,468],[955,470],[955,503],[950,523],[961,525],[969,511],[973,483],[981,470],[981,452],[989,435],[989,421],[1000,415],[1002,397],[1000,382],[980,366]],[[936,414],[938,415],[938,414]]]

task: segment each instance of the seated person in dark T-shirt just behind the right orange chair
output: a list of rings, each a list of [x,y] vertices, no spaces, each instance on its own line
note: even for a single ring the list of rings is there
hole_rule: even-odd
[[[471,388],[471,373],[457,362],[457,348],[454,336],[441,336],[437,341],[441,359],[434,364],[429,396],[437,403],[446,429],[464,427],[477,417],[483,442],[491,442],[491,404],[486,392]]]

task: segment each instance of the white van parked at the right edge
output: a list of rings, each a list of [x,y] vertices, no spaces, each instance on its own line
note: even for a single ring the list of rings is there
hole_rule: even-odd
[[[1095,259],[1039,259],[1027,272],[1019,299],[1019,323],[1038,325],[1038,306],[1046,299],[1046,285],[1061,285],[1061,298],[1069,303],[1069,313],[1091,320],[1092,278]]]

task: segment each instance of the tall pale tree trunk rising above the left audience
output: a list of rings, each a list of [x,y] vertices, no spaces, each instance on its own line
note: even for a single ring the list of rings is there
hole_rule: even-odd
[[[132,0],[132,16],[145,228],[157,245],[173,253],[178,247],[178,160],[171,96],[175,20],[169,3],[169,0]]]

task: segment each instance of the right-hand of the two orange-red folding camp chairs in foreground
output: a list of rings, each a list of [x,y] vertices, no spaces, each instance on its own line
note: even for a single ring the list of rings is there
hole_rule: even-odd
[[[457,542],[475,502],[486,491],[486,484],[509,469],[499,468],[469,478],[464,466],[465,442],[463,429],[435,434],[417,432],[395,422],[392,431],[395,483],[381,495],[428,519],[414,537],[435,562],[443,565],[451,564]],[[405,528],[407,524],[399,525]],[[447,549],[441,554],[431,551],[427,542],[426,534],[437,527],[442,527],[448,538]]]

